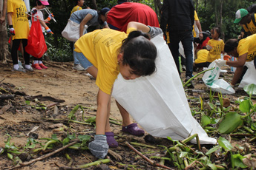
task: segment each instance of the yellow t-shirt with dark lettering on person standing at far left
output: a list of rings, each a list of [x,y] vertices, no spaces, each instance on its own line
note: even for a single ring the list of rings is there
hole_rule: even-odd
[[[7,13],[13,13],[12,21],[15,35],[13,39],[27,39],[30,27],[27,19],[27,8],[22,0],[8,0]]]

